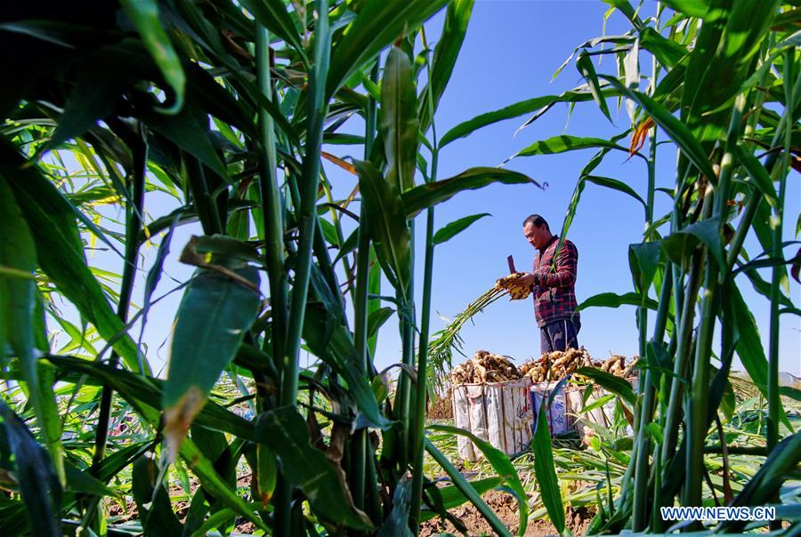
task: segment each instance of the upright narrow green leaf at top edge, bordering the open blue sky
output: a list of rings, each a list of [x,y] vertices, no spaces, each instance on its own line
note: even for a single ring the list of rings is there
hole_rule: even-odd
[[[434,46],[433,60],[431,62],[431,93],[433,99],[433,112],[440,104],[442,93],[448,86],[453,68],[456,65],[459,51],[467,34],[467,24],[473,13],[474,0],[452,0],[445,13],[445,22],[442,26],[440,40]],[[428,85],[423,88],[420,95],[428,95]],[[427,132],[432,118],[428,108],[427,97],[421,99],[417,106],[417,116],[420,118],[420,131]]]

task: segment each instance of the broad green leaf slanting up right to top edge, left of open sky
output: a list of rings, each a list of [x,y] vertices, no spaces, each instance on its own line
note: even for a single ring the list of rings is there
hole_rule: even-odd
[[[327,99],[386,45],[420,26],[447,3],[448,0],[368,0],[331,53]]]

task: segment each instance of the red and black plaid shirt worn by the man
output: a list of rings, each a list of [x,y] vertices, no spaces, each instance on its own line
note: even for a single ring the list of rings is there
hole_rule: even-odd
[[[578,250],[575,244],[565,240],[554,264],[558,244],[559,237],[554,235],[545,249],[538,251],[534,257],[534,317],[540,326],[570,319],[578,306],[575,288]]]

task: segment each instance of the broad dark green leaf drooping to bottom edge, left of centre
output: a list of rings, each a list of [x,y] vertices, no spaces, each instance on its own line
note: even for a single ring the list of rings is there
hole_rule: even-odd
[[[336,525],[368,530],[367,515],[353,506],[344,478],[326,455],[312,447],[303,416],[294,406],[263,413],[256,422],[259,442],[276,453],[281,475],[299,488],[322,519]]]

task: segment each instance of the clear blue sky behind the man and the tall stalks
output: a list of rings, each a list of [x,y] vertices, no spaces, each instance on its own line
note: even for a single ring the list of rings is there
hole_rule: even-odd
[[[646,9],[652,10],[653,5],[646,4]],[[455,124],[482,112],[502,108],[519,100],[562,92],[581,84],[582,79],[574,64],[565,68],[553,83],[550,80],[554,70],[573,48],[602,34],[603,13],[607,7],[600,1],[477,1],[462,54],[436,116],[440,135]],[[438,14],[426,25],[431,42],[438,38],[443,18],[443,13]],[[606,33],[618,34],[628,28],[627,20],[616,12],[608,22]],[[598,70],[611,72],[611,63],[607,63],[610,60],[611,57],[604,59]],[[643,53],[641,70],[649,74],[650,69],[650,57]],[[624,108],[616,111],[614,100],[609,103],[616,126],[609,124],[594,103],[588,102],[574,110],[569,124],[567,105],[557,105],[516,138],[514,132],[527,119],[525,116],[491,125],[466,139],[457,140],[442,151],[440,179],[472,166],[498,165],[531,142],[561,133],[610,137],[626,128],[628,117]],[[348,130],[360,132],[358,118],[352,120]],[[664,140],[661,132],[659,136]],[[338,156],[349,155],[349,150],[352,150],[343,146],[327,149]],[[675,180],[675,150],[667,144],[659,149],[658,186],[672,187]],[[479,220],[462,235],[436,248],[433,309],[446,317],[455,316],[469,302],[487,291],[496,278],[506,274],[506,256],[509,254],[514,255],[517,268],[530,269],[535,251],[523,239],[522,220],[530,213],[538,212],[546,217],[552,229],[561,228],[578,172],[593,154],[594,150],[588,149],[564,155],[518,158],[506,167],[525,172],[540,182],[547,182],[546,190],[531,185],[496,185],[465,192],[439,205],[436,209],[437,228],[477,212],[490,212],[492,217]],[[326,170],[335,188],[335,198],[343,199],[351,191],[355,179],[328,163]],[[611,154],[596,173],[624,180],[644,196],[646,172],[639,159],[627,161],[627,155],[623,153]],[[792,228],[801,200],[797,174],[794,173],[790,179],[786,240],[793,238]],[[657,201],[655,214],[660,216],[668,212],[667,196],[658,194]],[[162,196],[150,199],[148,204],[146,210],[152,218],[174,208],[174,203]],[[576,285],[579,302],[597,293],[627,293],[633,290],[627,248],[628,244],[641,242],[643,221],[643,208],[635,200],[616,191],[587,186],[569,234],[579,252]],[[177,258],[190,234],[199,232],[198,226],[176,230],[172,253],[166,263],[169,277],[179,281],[190,277],[190,268],[180,265]],[[421,216],[417,220],[416,249],[418,308],[423,282],[424,234],[425,216]],[[746,247],[752,254],[761,251],[753,237],[749,237]],[[105,255],[102,257],[106,258]],[[155,248],[151,248],[145,255],[144,267],[150,268],[154,259]],[[119,260],[101,260],[101,256],[98,256],[94,262],[103,268],[120,269]],[[169,277],[162,278],[157,296],[174,287]],[[765,274],[765,277],[769,275]],[[138,304],[141,304],[143,281],[144,274],[141,273],[134,294],[134,301]],[[801,302],[799,285],[795,282],[790,285],[792,300]],[[740,282],[740,286],[766,342],[767,301],[754,293],[747,281]],[[156,370],[164,365],[168,357],[167,340],[179,301],[180,293],[175,293],[151,310],[144,341],[149,346],[150,364]],[[381,331],[376,353],[379,369],[401,360],[396,321],[397,318],[392,317]],[[432,333],[444,325],[436,313],[433,314],[432,323]],[[781,317],[781,369],[796,374],[801,372],[799,328],[801,323],[798,317]],[[138,329],[134,333],[138,333]],[[477,349],[487,349],[514,357],[518,364],[539,355],[539,335],[530,301],[496,302],[475,317],[473,325],[465,325],[461,336],[465,341],[465,352],[470,355]],[[635,308],[588,309],[582,312],[578,340],[593,356],[599,358],[608,357],[609,353],[627,357],[637,354]],[[304,357],[303,363],[307,359]]]

